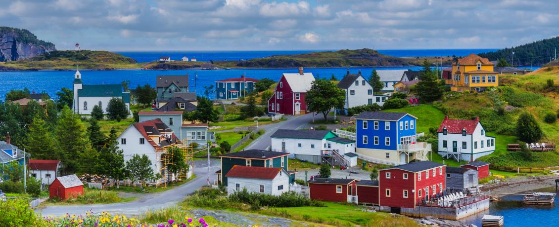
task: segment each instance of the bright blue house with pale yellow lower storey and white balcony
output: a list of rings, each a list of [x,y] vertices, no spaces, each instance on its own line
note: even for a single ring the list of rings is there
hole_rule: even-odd
[[[426,161],[431,144],[416,141],[416,117],[408,113],[364,112],[356,118],[356,152],[385,165]]]

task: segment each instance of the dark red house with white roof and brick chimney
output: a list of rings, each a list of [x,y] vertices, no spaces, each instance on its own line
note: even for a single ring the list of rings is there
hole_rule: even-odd
[[[314,81],[312,73],[284,73],[268,99],[268,113],[299,115],[307,113],[305,95]]]

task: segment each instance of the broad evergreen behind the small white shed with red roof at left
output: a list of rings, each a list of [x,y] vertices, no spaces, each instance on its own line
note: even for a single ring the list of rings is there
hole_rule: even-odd
[[[48,160],[56,158],[56,142],[45,120],[35,117],[27,133],[25,149],[31,158]]]

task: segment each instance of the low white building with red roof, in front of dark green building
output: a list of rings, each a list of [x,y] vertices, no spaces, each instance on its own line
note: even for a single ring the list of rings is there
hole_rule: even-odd
[[[228,195],[243,189],[269,195],[281,195],[289,191],[289,173],[283,168],[235,165],[225,177]]]

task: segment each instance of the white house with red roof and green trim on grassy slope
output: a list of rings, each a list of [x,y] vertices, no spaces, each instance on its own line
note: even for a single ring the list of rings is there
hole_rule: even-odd
[[[447,158],[475,161],[495,151],[495,137],[487,136],[479,117],[457,120],[444,116],[437,132],[438,153]]]

